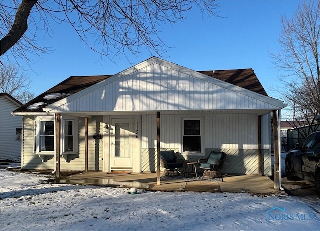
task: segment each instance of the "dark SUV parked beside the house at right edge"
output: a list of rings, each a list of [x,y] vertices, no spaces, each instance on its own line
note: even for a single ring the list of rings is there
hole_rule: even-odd
[[[296,144],[286,154],[285,173],[288,180],[302,178],[315,183],[320,196],[320,131],[310,134],[302,145]]]

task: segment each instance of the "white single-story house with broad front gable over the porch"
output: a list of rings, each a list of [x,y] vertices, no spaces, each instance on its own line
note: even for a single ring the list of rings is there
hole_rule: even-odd
[[[161,150],[186,160],[223,150],[222,172],[270,175],[270,113],[281,108],[252,69],[194,71],[152,57],[115,75],[70,77],[14,114],[24,169],[153,172],[160,131]]]

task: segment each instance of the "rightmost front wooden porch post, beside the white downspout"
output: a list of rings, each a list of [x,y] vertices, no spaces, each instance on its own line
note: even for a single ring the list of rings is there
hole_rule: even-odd
[[[278,136],[278,122],[276,110],[272,111],[273,121],[273,152],[274,152],[274,189],[280,190],[280,166],[279,166],[279,136]]]

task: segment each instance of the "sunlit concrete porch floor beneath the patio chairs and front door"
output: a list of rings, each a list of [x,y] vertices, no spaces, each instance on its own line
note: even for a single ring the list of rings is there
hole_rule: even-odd
[[[109,174],[106,172],[83,172],[62,176],[60,183],[80,185],[101,185],[109,187],[136,187],[153,191],[194,191],[194,192],[249,192],[254,194],[283,194],[274,190],[274,182],[268,176],[239,175],[223,176],[221,179],[209,178],[189,181],[168,176],[157,185],[156,173]],[[192,179],[192,178],[191,178]]]

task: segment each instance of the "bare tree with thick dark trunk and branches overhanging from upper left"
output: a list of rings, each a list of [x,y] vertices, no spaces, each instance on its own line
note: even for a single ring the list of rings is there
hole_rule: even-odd
[[[218,16],[214,0],[1,1],[0,54],[10,51],[28,60],[28,53],[46,53],[48,47],[37,45],[39,34],[50,35],[51,23],[68,23],[90,49],[110,60],[125,51],[137,54],[142,47],[161,56],[166,46],[159,36],[160,24],[183,20],[193,6]]]

